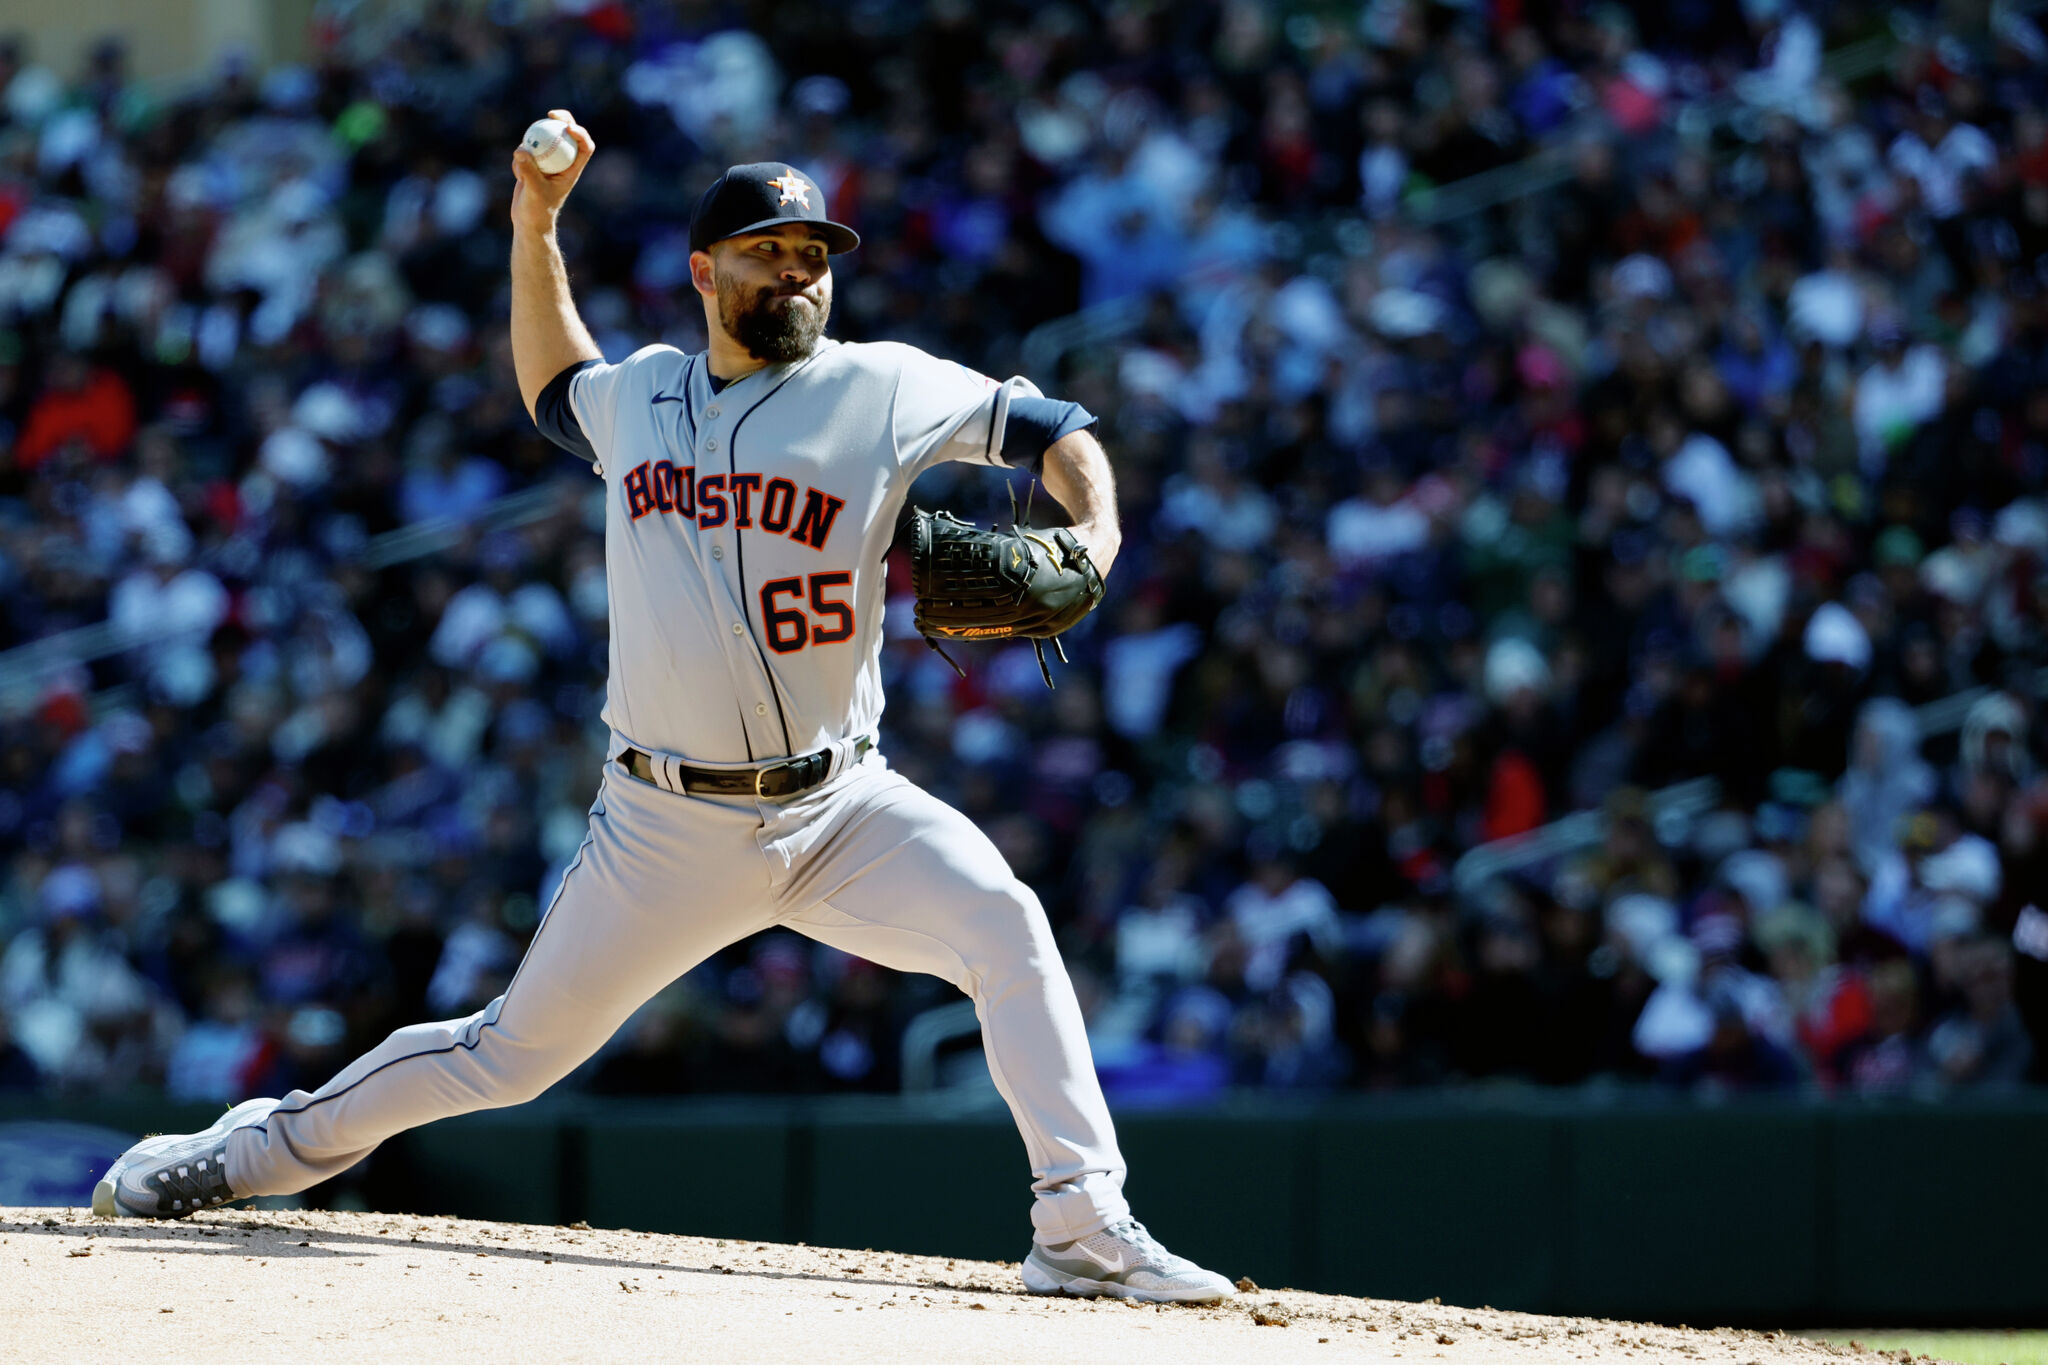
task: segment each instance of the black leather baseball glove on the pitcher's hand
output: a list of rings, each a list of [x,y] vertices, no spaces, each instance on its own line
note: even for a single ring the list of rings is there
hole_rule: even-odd
[[[938,641],[1032,641],[1049,688],[1044,641],[1065,661],[1057,636],[1102,602],[1102,575],[1065,528],[1012,522],[1010,530],[981,530],[948,512],[911,508],[897,538],[909,551],[918,630],[932,649]]]

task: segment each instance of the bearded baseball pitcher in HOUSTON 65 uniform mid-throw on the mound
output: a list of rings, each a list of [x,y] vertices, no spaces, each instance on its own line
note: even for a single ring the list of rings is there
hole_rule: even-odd
[[[535,422],[606,491],[610,749],[590,833],[502,997],[391,1033],[313,1093],[139,1142],[94,1212],[180,1218],[301,1191],[418,1124],[532,1099],[676,976],[782,925],[973,997],[1030,1156],[1030,1291],[1227,1297],[1227,1279],[1130,1218],[1036,896],[879,749],[883,557],[899,520],[928,636],[1057,636],[1100,600],[1118,551],[1094,417],[1022,379],[827,338],[831,258],[860,239],[780,162],[733,166],[696,201],[707,350],[606,364],[555,244],[594,143],[551,117],[578,153],[553,176],[524,147],[512,160],[512,352]],[[1036,471],[1071,530],[905,514],[940,460]]]

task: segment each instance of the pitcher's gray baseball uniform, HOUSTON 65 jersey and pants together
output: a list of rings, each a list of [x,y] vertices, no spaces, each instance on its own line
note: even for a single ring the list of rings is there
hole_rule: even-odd
[[[1128,1214],[1038,898],[967,817],[862,745],[883,712],[883,555],[905,491],[940,460],[1004,467],[1020,393],[1036,389],[829,340],[719,391],[705,356],[668,346],[569,379],[606,485],[612,739],[590,835],[506,993],[391,1033],[236,1130],[236,1191],[299,1191],[406,1128],[532,1099],[676,976],[782,925],[973,997],[1040,1242]],[[635,751],[649,780],[623,765]],[[786,800],[680,780],[809,753],[831,776]]]

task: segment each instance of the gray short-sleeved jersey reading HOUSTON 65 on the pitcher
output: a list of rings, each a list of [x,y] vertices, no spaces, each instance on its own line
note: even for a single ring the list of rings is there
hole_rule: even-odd
[[[903,495],[940,460],[1004,467],[1018,393],[1038,395],[897,342],[821,340],[717,393],[674,346],[575,372],[606,487],[612,733],[702,763],[874,735]]]

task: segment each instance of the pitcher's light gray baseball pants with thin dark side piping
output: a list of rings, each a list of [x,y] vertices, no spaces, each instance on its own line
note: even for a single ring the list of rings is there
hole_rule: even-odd
[[[1128,1214],[1044,909],[973,821],[879,755],[786,802],[680,796],[606,763],[590,835],[506,993],[467,1019],[397,1029],[317,1091],[287,1095],[229,1136],[227,1181],[297,1193],[408,1128],[528,1101],[666,984],[776,925],[973,997],[1030,1156],[1036,1240]]]

